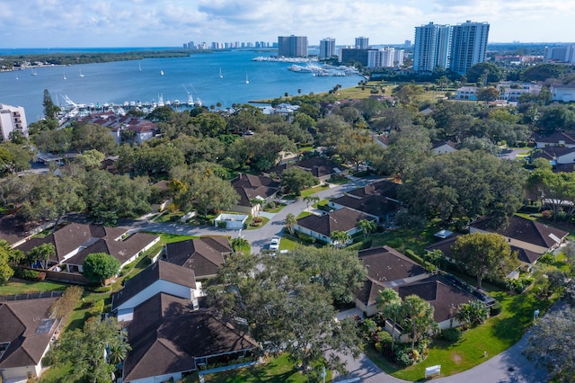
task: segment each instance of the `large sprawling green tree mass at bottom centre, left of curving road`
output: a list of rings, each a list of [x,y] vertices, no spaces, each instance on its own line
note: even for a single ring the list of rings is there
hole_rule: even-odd
[[[233,254],[207,289],[211,305],[261,344],[262,352],[288,352],[315,378],[321,368],[345,370],[338,353],[358,355],[353,318],[334,320],[336,302],[349,302],[366,271],[352,252],[296,250],[296,256]]]

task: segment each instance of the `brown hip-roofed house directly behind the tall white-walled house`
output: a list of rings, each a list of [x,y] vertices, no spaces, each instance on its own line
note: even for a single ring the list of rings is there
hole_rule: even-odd
[[[232,254],[232,246],[225,236],[205,236],[165,245],[163,259],[194,271],[196,278],[216,276],[217,268]]]

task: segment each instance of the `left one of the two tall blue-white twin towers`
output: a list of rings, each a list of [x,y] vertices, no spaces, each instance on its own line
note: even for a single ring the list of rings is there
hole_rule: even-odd
[[[429,22],[415,27],[413,70],[432,72],[437,67],[449,67],[451,27]]]

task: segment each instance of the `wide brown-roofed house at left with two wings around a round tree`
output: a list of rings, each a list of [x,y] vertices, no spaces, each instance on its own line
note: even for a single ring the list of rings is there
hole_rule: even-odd
[[[118,259],[121,267],[155,245],[159,236],[135,233],[128,236],[126,229],[72,223],[45,237],[31,238],[17,248],[24,254],[34,247],[52,244],[56,250],[48,264],[36,267],[53,268],[60,272],[82,272],[84,259],[89,254],[106,253]]]

